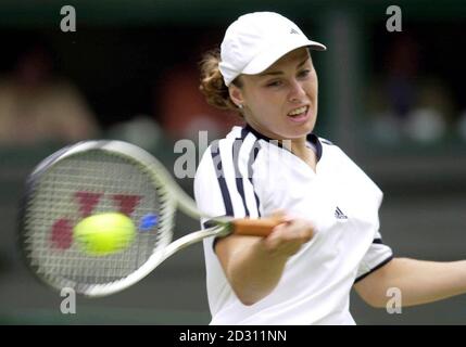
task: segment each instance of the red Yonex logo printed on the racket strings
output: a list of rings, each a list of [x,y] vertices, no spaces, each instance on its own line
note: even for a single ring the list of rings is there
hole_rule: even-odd
[[[103,193],[78,191],[74,198],[79,205],[80,218],[89,217],[96,209],[99,202],[104,196]],[[130,216],[139,205],[141,196],[129,194],[110,194],[113,204],[121,214]],[[73,243],[74,221],[67,218],[60,218],[52,224],[50,241],[58,249],[67,249]]]

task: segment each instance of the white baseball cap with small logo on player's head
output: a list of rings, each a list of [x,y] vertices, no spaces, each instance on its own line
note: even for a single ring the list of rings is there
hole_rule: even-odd
[[[281,56],[301,47],[325,51],[311,41],[290,20],[274,12],[253,12],[240,16],[225,33],[218,67],[228,87],[239,75],[255,75]]]

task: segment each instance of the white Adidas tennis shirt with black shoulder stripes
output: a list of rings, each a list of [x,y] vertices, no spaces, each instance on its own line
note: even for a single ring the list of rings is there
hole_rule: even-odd
[[[276,288],[252,306],[237,298],[213,237],[205,239],[211,324],[354,324],[352,285],[392,258],[379,233],[380,189],[337,145],[312,133],[307,141],[316,171],[249,126],[234,127],[203,154],[194,179],[202,211],[254,218],[284,209],[316,228]]]

